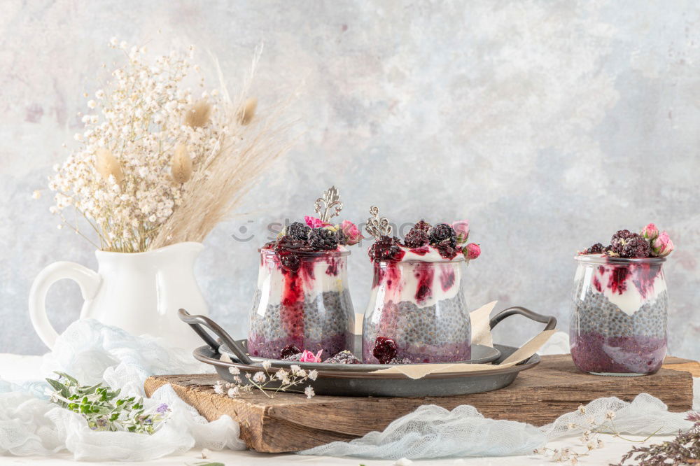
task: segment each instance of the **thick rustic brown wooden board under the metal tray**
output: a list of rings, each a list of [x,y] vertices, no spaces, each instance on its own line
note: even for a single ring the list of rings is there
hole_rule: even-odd
[[[508,387],[486,393],[449,397],[367,398],[262,393],[239,398],[216,395],[211,387],[216,374],[153,376],[146,380],[146,395],[170,383],[176,393],[209,421],[228,414],[241,425],[241,437],[257,451],[299,451],[362,437],[386,426],[423,404],[454,409],[471,404],[487,418],[510,419],[545,425],[561,414],[599,397],[632,400],[650,393],[671,411],[692,408],[692,373],[700,376],[700,363],[666,358],[657,374],[640,377],[592,376],[580,372],[568,355],[542,356],[537,367],[521,372]]]

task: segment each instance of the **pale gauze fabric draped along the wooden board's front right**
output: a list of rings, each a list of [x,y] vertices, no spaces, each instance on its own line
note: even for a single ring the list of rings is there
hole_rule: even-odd
[[[568,335],[557,332],[540,353],[568,353]],[[700,409],[699,380],[694,381],[694,409]],[[668,412],[666,404],[647,393],[638,395],[631,403],[616,397],[598,398],[587,404],[585,413],[563,414],[541,428],[487,419],[468,405],[452,411],[430,405],[398,418],[383,432],[370,432],[350,442],[332,442],[300,454],[391,460],[524,455],[555,439],[581,435],[590,428],[591,421],[605,423],[608,411],[615,412],[613,422],[620,434],[668,435],[693,425],[685,421],[686,414]]]

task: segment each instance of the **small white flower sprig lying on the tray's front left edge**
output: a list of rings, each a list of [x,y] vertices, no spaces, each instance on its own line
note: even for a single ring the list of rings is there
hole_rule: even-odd
[[[276,372],[270,374],[269,368],[272,367],[272,362],[263,361],[262,371],[251,374],[245,374],[246,383],[241,379],[241,371],[237,367],[229,367],[228,371],[233,375],[234,383],[217,381],[214,384],[214,392],[218,395],[228,395],[231,398],[239,397],[244,393],[251,393],[255,388],[258,388],[265,396],[272,398],[277,392],[286,392],[290,388],[300,386],[306,381],[314,381],[318,377],[316,369],[306,372],[297,365],[291,365],[289,370],[277,369]],[[277,388],[269,387],[271,383],[279,383]],[[269,393],[272,392],[272,393]],[[314,393],[314,388],[310,385],[304,388],[304,395],[311,398]]]

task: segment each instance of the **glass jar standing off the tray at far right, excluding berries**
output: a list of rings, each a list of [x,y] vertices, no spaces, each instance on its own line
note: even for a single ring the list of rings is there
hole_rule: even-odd
[[[569,326],[571,357],[584,372],[643,375],[666,356],[664,257],[579,255]]]

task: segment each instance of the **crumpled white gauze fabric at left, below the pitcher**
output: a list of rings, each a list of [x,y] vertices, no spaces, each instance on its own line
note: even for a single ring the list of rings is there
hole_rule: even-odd
[[[134,337],[97,320],[79,320],[57,339],[43,357],[42,372],[66,372],[86,385],[105,383],[123,395],[144,396],[144,381],[153,374],[208,372],[189,351],[168,346],[162,339]],[[48,401],[45,381],[21,385],[0,380],[0,454],[50,455],[68,450],[76,460],[146,461],[193,447],[245,449],[239,425],[229,416],[207,422],[164,386],[146,408],[168,404],[172,415],[153,435],[96,432],[79,414]]]

